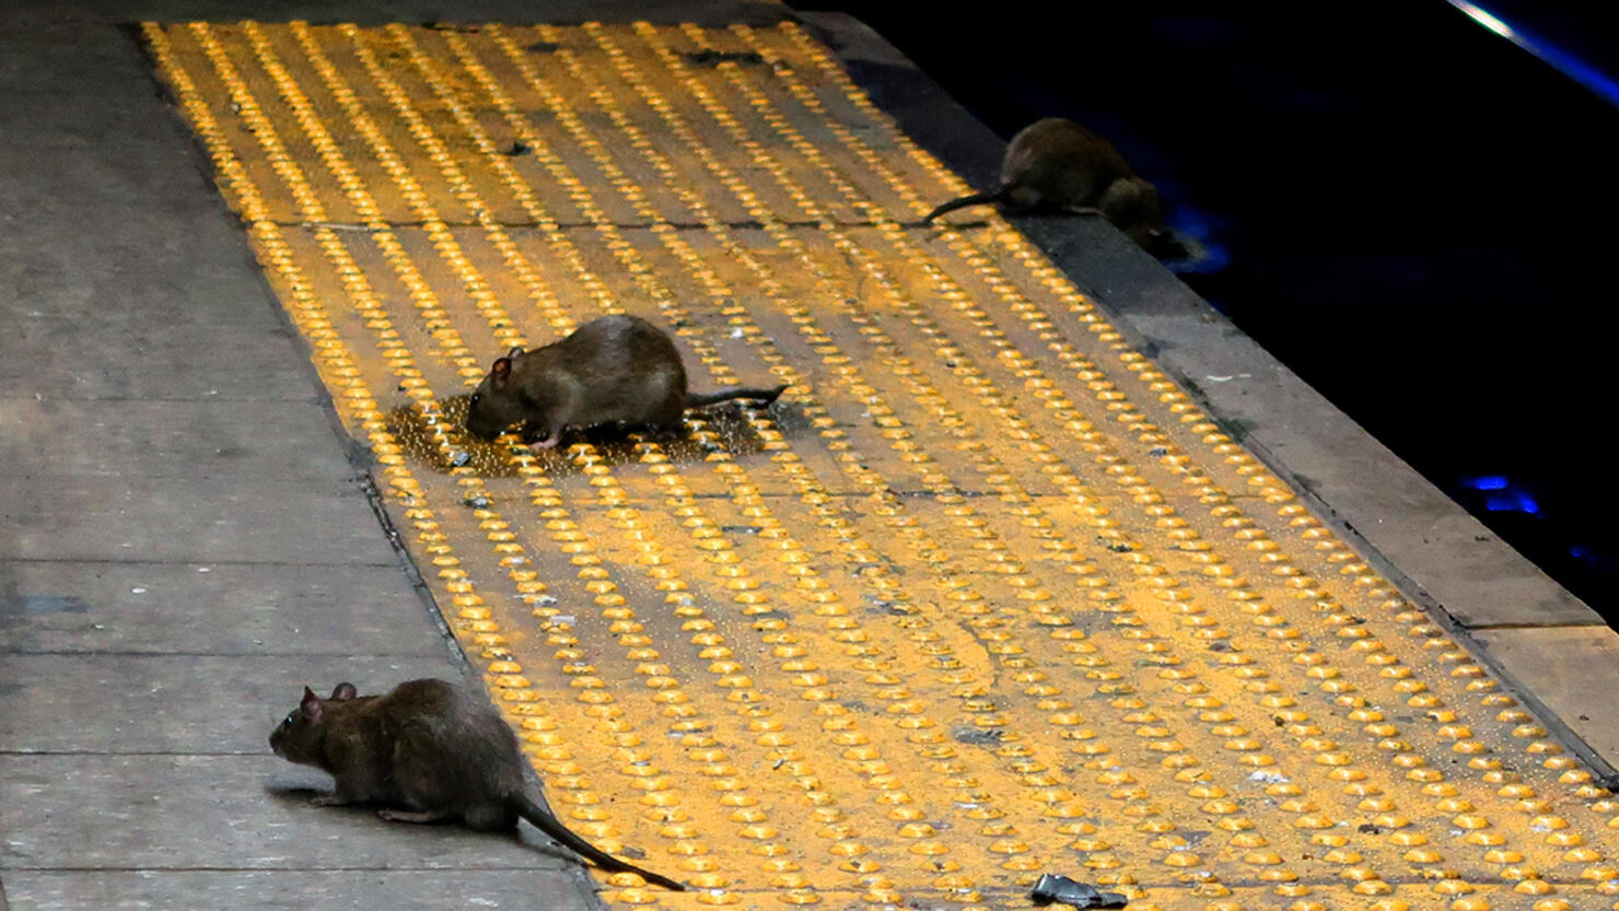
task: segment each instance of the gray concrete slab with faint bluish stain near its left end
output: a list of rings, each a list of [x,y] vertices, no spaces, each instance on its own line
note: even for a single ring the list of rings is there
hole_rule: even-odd
[[[437,659],[429,608],[397,565],[0,561],[0,652]]]

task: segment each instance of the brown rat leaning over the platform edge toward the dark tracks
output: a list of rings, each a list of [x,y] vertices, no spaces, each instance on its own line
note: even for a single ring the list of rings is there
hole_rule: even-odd
[[[1106,138],[1060,117],[1025,126],[1001,160],[1001,186],[952,199],[923,218],[999,202],[1023,210],[1101,215],[1143,249],[1179,248],[1164,228],[1158,188],[1137,176]]]

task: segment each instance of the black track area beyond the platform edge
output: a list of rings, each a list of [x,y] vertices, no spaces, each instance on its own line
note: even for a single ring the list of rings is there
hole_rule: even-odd
[[[1443,0],[1109,3],[1072,24],[1026,2],[795,6],[863,19],[1002,138],[1047,115],[1112,138],[1211,248],[1193,290],[1619,618],[1619,108]],[[1616,60],[1619,13],[1486,6]]]

